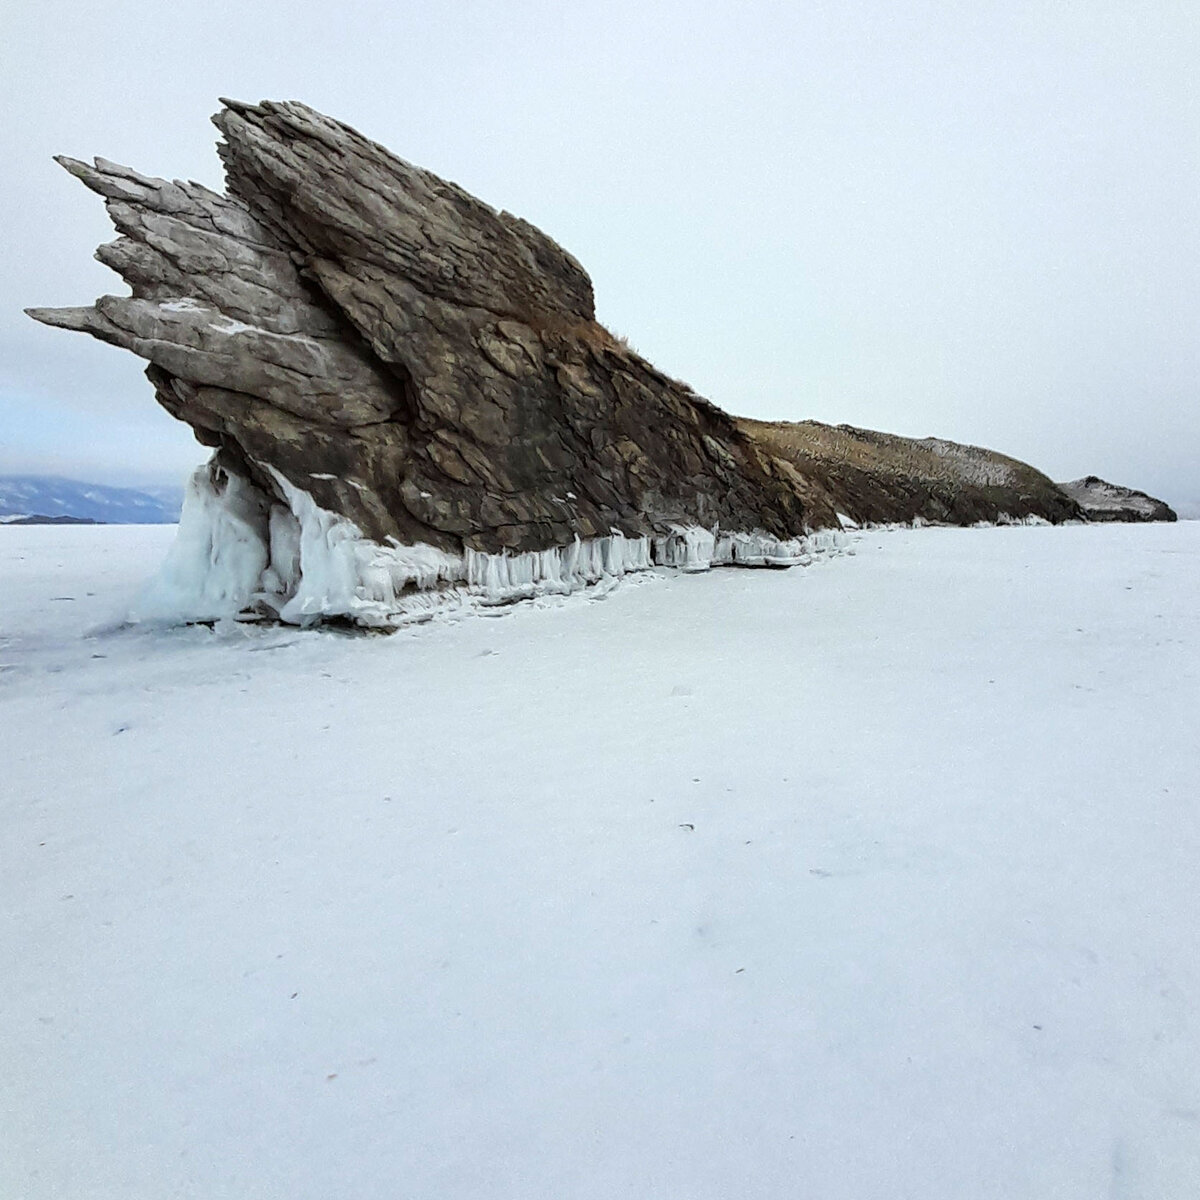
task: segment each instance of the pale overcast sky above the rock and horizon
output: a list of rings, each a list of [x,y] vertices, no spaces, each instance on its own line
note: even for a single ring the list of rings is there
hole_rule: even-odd
[[[138,360],[20,310],[124,292],[50,155],[220,186],[226,95],[540,226],[736,413],[1200,498],[1195,0],[0,4],[0,470],[203,460]]]

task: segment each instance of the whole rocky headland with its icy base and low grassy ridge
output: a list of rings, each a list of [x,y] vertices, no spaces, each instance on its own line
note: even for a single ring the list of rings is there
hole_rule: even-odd
[[[227,194],[59,160],[103,197],[120,236],[97,257],[131,295],[29,310],[146,359],[215,450],[150,611],[386,624],[652,563],[790,565],[839,511],[1078,516],[984,451],[968,497],[906,475],[908,451],[838,461],[736,421],[599,325],[587,274],[527,222],[302,104],[223,106]]]

